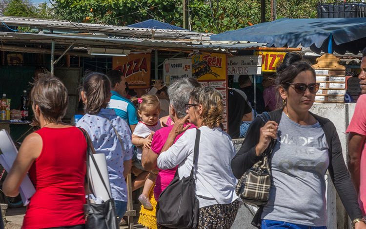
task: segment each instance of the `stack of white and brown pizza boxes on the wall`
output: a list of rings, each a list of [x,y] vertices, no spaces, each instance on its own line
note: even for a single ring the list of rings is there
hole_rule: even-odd
[[[324,54],[316,59],[316,82],[320,89],[315,96],[318,103],[344,103],[346,94],[346,67],[339,64],[339,58],[332,54]]]

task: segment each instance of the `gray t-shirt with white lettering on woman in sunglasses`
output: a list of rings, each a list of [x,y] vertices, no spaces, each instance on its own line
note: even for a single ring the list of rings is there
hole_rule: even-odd
[[[282,113],[273,149],[272,186],[262,219],[326,226],[328,145],[319,122],[302,126]]]

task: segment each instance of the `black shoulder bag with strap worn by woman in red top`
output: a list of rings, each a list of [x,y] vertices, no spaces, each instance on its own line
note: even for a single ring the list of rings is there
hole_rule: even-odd
[[[88,176],[88,168],[89,168],[89,156],[92,159],[95,168],[98,171],[99,177],[102,180],[104,188],[107,190],[107,186],[102,178],[101,171],[98,168],[97,162],[94,159],[93,153],[94,147],[90,141],[89,135],[85,132],[85,130],[79,128],[81,132],[84,134],[87,144],[87,153],[86,153],[86,180],[87,187],[90,187],[90,179]],[[92,189],[90,189],[92,190]],[[90,197],[87,199],[86,204],[84,205],[85,212],[85,228],[86,229],[119,229],[119,223],[115,213],[115,204],[114,199],[110,196],[109,192],[109,200],[103,202],[102,204],[96,204],[90,202]]]

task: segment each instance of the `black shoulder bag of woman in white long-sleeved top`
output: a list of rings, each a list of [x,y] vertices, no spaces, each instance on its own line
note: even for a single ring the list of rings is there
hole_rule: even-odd
[[[193,169],[197,163],[200,135],[201,131],[197,129],[191,174],[180,180],[177,169],[174,179],[159,196],[156,218],[158,224],[166,228],[197,228],[200,205],[196,197],[196,179],[193,177]]]

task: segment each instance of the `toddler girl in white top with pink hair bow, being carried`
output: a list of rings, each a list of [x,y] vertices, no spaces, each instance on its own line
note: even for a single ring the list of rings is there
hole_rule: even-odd
[[[138,115],[140,117],[135,131],[132,134],[132,144],[137,146],[137,167],[141,166],[142,147],[147,149],[151,146],[152,135],[161,128],[159,115],[161,112],[160,101],[156,95],[142,95],[141,98],[133,98],[132,102],[137,104]],[[152,209],[152,205],[148,199],[149,192],[154,186],[156,174],[150,172],[143,187],[139,201],[145,209]]]

